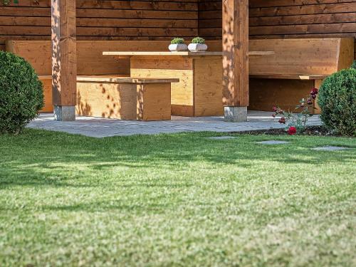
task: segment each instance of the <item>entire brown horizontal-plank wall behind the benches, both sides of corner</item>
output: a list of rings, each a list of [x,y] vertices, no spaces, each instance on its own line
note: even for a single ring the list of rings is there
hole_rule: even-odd
[[[19,2],[0,4],[0,49],[50,40],[50,0]],[[221,39],[221,0],[77,0],[77,16],[78,40]],[[356,0],[250,0],[250,38],[332,36],[356,37]]]

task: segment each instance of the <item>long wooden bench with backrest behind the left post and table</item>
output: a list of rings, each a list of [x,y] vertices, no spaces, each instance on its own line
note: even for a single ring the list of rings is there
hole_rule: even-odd
[[[166,51],[168,43],[169,41],[150,41],[149,49]],[[78,76],[81,78],[90,78],[93,75],[103,75],[105,78],[108,76],[112,78],[130,76],[129,59],[117,60],[104,57],[103,51],[142,51],[145,49],[147,50],[147,42],[144,41],[78,41]],[[16,53],[31,63],[43,82],[45,107],[41,112],[52,112],[51,41],[6,41],[6,51]],[[162,85],[165,80],[167,79],[163,79],[159,83]],[[93,83],[96,82],[93,81]],[[86,85],[90,87],[88,81]],[[147,87],[152,87],[152,84]],[[81,93],[83,94],[83,86],[81,86]],[[80,105],[79,102],[78,105]]]

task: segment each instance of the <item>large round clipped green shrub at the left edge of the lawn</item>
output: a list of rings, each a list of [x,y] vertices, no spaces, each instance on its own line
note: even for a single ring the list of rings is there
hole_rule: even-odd
[[[43,108],[43,85],[23,58],[0,51],[0,133],[18,134]]]

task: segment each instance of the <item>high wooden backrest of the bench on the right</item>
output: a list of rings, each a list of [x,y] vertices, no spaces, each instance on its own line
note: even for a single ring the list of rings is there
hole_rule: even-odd
[[[274,55],[250,58],[250,74],[313,76],[330,75],[351,66],[352,38],[298,38],[251,40],[252,50],[273,50]]]

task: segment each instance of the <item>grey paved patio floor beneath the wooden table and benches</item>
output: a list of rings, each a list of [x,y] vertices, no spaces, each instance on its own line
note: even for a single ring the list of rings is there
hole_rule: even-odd
[[[75,122],[57,122],[52,113],[41,114],[28,127],[86,135],[88,137],[111,137],[123,135],[155,135],[175,132],[243,132],[283,128],[273,112],[248,111],[247,122],[224,122],[224,117],[175,117],[159,122],[112,120],[99,117],[77,117]],[[310,117],[308,125],[320,125],[318,115]]]

